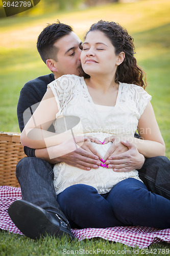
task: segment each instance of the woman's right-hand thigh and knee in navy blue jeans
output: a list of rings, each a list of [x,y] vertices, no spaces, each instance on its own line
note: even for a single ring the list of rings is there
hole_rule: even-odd
[[[151,193],[136,179],[116,184],[107,201],[117,219],[126,225],[170,228],[170,201]]]

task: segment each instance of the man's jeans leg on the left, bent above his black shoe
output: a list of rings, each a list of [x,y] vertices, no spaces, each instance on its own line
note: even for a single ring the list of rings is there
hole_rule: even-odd
[[[57,202],[52,164],[36,157],[23,158],[16,166],[16,178],[23,200],[54,212],[67,220]]]

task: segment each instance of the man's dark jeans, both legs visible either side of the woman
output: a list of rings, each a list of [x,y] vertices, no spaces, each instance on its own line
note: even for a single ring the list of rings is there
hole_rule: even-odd
[[[170,199],[170,161],[166,157],[146,159],[139,173],[150,191]],[[36,157],[23,158],[16,166],[16,178],[23,200],[63,215],[53,186],[52,164]]]

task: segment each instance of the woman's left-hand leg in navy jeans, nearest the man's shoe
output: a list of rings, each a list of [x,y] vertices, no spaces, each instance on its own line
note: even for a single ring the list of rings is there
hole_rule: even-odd
[[[124,225],[115,218],[111,205],[92,186],[72,185],[60,193],[57,200],[72,228]]]

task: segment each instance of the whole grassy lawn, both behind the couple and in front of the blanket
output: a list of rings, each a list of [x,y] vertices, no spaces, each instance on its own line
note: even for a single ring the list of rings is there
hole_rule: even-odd
[[[50,73],[36,50],[36,40],[47,23],[59,19],[71,25],[83,39],[85,31],[99,19],[114,20],[128,29],[136,46],[139,66],[147,73],[147,91],[152,95],[152,105],[166,144],[166,156],[170,158],[169,95],[170,95],[170,2],[148,0],[135,3],[118,3],[98,6],[86,10],[66,13],[50,13],[39,16],[7,17],[0,19],[0,130],[19,132],[16,105],[23,84],[37,76]],[[81,242],[58,241],[52,238],[32,241],[26,237],[0,232],[1,255],[63,255],[63,248],[85,250],[131,250],[120,243],[102,239]],[[151,248],[168,248],[167,244],[152,245]],[[125,254],[125,253],[122,253]],[[122,255],[119,254],[119,255]],[[170,255],[170,253],[162,253]],[[100,255],[100,254],[99,254]],[[139,250],[138,255],[143,254]],[[155,254],[158,255],[158,254]],[[159,253],[160,255],[160,253]]]

